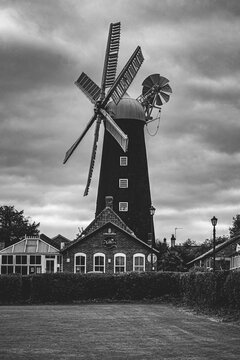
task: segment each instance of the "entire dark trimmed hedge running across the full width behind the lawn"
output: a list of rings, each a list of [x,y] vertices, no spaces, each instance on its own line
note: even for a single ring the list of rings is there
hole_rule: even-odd
[[[240,272],[1,275],[0,304],[180,299],[240,309]]]

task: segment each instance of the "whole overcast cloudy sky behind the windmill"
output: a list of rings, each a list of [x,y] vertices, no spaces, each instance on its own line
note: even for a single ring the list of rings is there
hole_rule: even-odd
[[[240,213],[238,0],[1,0],[0,205],[24,210],[40,231],[72,239],[94,218],[101,141],[83,197],[93,130],[62,164],[92,115],[74,81],[101,81],[108,27],[121,21],[119,67],[140,45],[170,80],[156,136],[146,132],[156,237],[197,242],[228,234]],[[150,132],[155,132],[153,123]]]

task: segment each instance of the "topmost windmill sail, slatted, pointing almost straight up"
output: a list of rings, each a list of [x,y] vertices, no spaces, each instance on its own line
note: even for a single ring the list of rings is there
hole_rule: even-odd
[[[111,87],[115,81],[120,43],[120,22],[110,24],[101,89]]]

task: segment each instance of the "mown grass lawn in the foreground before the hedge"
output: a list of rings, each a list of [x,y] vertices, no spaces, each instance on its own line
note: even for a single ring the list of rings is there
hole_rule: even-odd
[[[172,305],[0,307],[0,359],[240,359],[240,327]]]

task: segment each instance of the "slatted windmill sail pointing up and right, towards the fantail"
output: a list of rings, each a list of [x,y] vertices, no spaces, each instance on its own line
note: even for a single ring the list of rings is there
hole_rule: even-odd
[[[143,63],[143,60],[144,57],[142,54],[142,50],[140,46],[138,46],[128,60],[123,70],[121,71],[121,73],[118,75],[112,87],[109,89],[103,101],[104,106],[107,104],[110,97],[112,97],[116,105],[119,103],[129,86],[131,85],[133,79],[135,78],[138,70]]]

